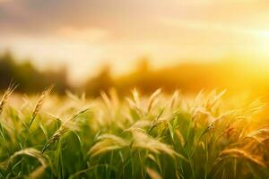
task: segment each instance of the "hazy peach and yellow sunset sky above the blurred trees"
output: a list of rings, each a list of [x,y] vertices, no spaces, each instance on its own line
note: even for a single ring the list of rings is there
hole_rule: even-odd
[[[105,64],[129,72],[144,56],[154,67],[230,54],[269,64],[268,47],[269,1],[0,0],[0,51],[66,65],[72,81]]]

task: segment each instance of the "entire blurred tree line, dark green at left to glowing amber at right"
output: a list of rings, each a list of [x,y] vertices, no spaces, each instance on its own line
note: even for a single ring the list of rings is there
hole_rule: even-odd
[[[119,93],[128,93],[134,87],[143,93],[161,88],[165,91],[176,89],[187,93],[199,90],[228,89],[232,91],[249,90],[264,95],[269,90],[269,71],[266,66],[223,59],[214,63],[185,63],[155,69],[146,59],[138,61],[134,72],[117,78],[110,67],[104,66],[100,73],[88,79],[81,87],[74,87],[67,80],[66,69],[40,72],[29,62],[16,63],[11,53],[0,55],[0,90],[7,88],[10,81],[20,84],[17,91],[35,93],[55,84],[55,91],[65,94],[65,90],[85,91],[89,96],[99,96],[100,91],[115,88]]]

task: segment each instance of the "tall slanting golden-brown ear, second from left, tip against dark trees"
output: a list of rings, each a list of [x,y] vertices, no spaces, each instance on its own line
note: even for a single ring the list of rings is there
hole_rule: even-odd
[[[28,129],[30,129],[30,125],[34,122],[36,116],[39,114],[39,111],[45,102],[45,98],[48,96],[48,94],[53,88],[54,88],[54,85],[50,85],[46,90],[42,92],[41,96],[39,97],[39,101],[36,107],[34,108],[32,115],[30,117],[30,124],[28,125]]]

